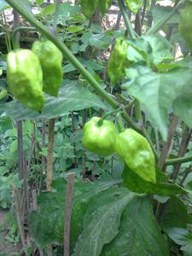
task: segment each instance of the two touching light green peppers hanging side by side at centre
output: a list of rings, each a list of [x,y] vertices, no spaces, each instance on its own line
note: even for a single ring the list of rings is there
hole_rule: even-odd
[[[82,143],[95,154],[119,154],[132,172],[148,182],[156,182],[154,153],[147,139],[137,131],[119,132],[112,121],[94,117],[84,125]]]

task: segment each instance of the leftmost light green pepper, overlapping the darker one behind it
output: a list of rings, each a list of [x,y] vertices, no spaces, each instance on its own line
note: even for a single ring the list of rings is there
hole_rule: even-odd
[[[13,96],[38,112],[44,107],[43,73],[37,55],[16,49],[7,55],[7,79]]]

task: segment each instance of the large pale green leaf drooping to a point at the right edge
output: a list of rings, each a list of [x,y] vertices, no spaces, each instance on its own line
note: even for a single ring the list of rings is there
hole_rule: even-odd
[[[137,98],[143,104],[149,119],[156,125],[163,137],[167,137],[167,113],[170,110],[177,113],[187,125],[192,127],[192,120],[187,119],[183,112],[190,112],[189,104],[181,106],[183,97],[192,98],[192,72],[190,68],[175,68],[166,73],[154,73],[149,67],[129,68],[126,70],[129,82],[123,84],[128,94]],[[172,86],[171,86],[172,84]],[[189,102],[189,101],[188,101]]]

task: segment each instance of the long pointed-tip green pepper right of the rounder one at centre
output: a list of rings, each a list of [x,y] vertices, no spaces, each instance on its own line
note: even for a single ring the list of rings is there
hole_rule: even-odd
[[[126,129],[115,138],[115,150],[132,172],[148,182],[156,182],[154,153],[145,137]]]

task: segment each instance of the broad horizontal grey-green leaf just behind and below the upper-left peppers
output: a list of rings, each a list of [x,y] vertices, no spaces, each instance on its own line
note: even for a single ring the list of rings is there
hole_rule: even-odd
[[[0,110],[6,112],[6,115],[15,119],[51,119],[61,116],[69,111],[80,110],[84,108],[103,108],[108,107],[102,100],[91,93],[89,89],[82,87],[74,81],[64,81],[64,84],[58,97],[47,96],[42,113],[37,113],[25,108],[20,102],[13,101],[0,105]]]

